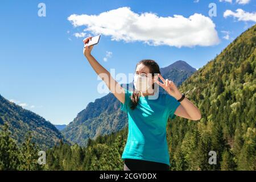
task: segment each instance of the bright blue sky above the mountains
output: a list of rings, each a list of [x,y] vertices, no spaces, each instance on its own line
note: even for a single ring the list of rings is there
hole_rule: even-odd
[[[116,73],[133,73],[135,64],[146,58],[156,60],[160,67],[170,65],[176,60],[184,60],[192,67],[200,68],[228,46],[234,38],[255,24],[256,0],[236,1],[230,3],[218,0],[198,2],[42,0],[24,3],[24,1],[3,0],[0,2],[0,94],[25,109],[42,115],[54,124],[68,124],[79,111],[85,109],[89,102],[105,96],[97,92],[97,85],[101,81],[97,80],[96,73],[82,54],[84,38],[76,37],[75,33],[94,35],[93,30],[98,31],[98,26],[103,26],[107,22],[104,26],[108,28],[108,35],[101,32],[100,44],[94,46],[92,55],[106,69],[110,71],[114,68]],[[46,5],[45,17],[38,16],[40,2]],[[216,3],[217,16],[209,17],[210,2]],[[161,40],[158,32],[163,35],[171,32],[177,35],[176,38],[183,33],[175,32],[174,25],[165,26],[164,23],[159,23],[156,29],[153,24],[153,29],[147,34],[140,34],[142,30],[144,31],[143,28],[147,28],[143,21],[142,24],[133,27],[134,32],[129,32],[129,36],[120,38],[119,32],[111,33],[113,30],[116,31],[110,24],[111,20],[104,22],[104,16],[102,20],[98,15],[122,7],[129,7],[132,17],[141,16],[142,13],[156,14],[155,23],[158,23],[159,17],[182,15],[188,19],[191,15],[201,14],[201,19],[209,18],[208,24],[202,28],[213,23],[215,27],[210,31],[217,32],[219,42],[214,43],[213,40],[210,43],[212,45],[200,46],[204,41],[197,43],[198,39],[195,38],[187,40],[190,39],[190,32],[186,35],[188,38],[177,39],[174,45],[172,45],[174,38],[168,43],[158,42]],[[237,9],[242,11],[238,12]],[[226,10],[229,12],[224,17]],[[72,14],[76,14],[75,18],[79,21],[81,14],[88,15],[86,16],[88,21],[92,20],[89,15],[96,15],[97,22],[101,22],[98,26],[92,22],[74,26],[72,20],[68,20]],[[112,15],[112,18],[114,21],[117,17]],[[188,22],[188,25],[191,25],[191,22]],[[86,27],[90,27],[91,31],[84,31]],[[129,31],[127,27],[122,27],[121,31]],[[148,27],[152,28],[152,24]],[[185,30],[185,26],[183,30],[188,31]],[[205,29],[203,34],[209,39],[212,38],[207,32],[208,30]],[[152,35],[156,38],[151,43],[147,43]],[[117,40],[118,38],[120,39]],[[207,38],[205,41],[208,40]],[[137,41],[129,41],[135,39]],[[191,47],[183,46],[194,42],[195,45]],[[179,43],[181,47],[177,46]],[[109,56],[107,51],[111,52]],[[104,61],[104,57],[107,60]]]

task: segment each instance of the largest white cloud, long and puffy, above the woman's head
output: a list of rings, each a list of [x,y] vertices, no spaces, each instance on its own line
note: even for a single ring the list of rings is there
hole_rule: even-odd
[[[212,20],[197,13],[188,18],[163,17],[154,13],[137,14],[130,7],[120,7],[99,15],[73,14],[68,20],[75,27],[86,26],[84,31],[111,36],[115,41],[175,47],[212,46],[220,42]]]

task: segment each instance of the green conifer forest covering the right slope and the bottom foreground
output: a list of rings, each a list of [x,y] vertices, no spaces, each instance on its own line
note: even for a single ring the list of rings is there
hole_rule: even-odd
[[[170,170],[256,170],[255,57],[256,25],[179,86],[202,117],[168,120]],[[86,147],[60,140],[46,151],[42,166],[31,137],[18,146],[8,126],[3,127],[0,170],[123,170],[127,127],[89,139]],[[216,151],[216,164],[208,163],[209,151]]]

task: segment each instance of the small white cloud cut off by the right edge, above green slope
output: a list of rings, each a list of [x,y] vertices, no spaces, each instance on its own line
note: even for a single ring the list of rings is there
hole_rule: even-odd
[[[256,22],[256,12],[255,13],[249,13],[246,11],[243,11],[242,9],[237,9],[236,12],[232,10],[226,10],[224,12],[224,18],[228,16],[233,16],[234,18],[237,18],[238,21],[253,21]]]

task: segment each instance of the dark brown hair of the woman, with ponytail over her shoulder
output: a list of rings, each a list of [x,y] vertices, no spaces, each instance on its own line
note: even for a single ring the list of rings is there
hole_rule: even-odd
[[[136,68],[139,64],[143,64],[146,67],[148,67],[151,74],[154,74],[154,73],[160,74],[159,65],[154,60],[143,59],[136,64]],[[136,68],[135,68],[135,71],[136,71]],[[154,84],[153,84],[153,89],[154,89]],[[136,108],[136,106],[138,105],[138,102],[139,102],[139,93],[133,91],[133,94],[131,95],[131,106],[130,106],[132,110]]]

